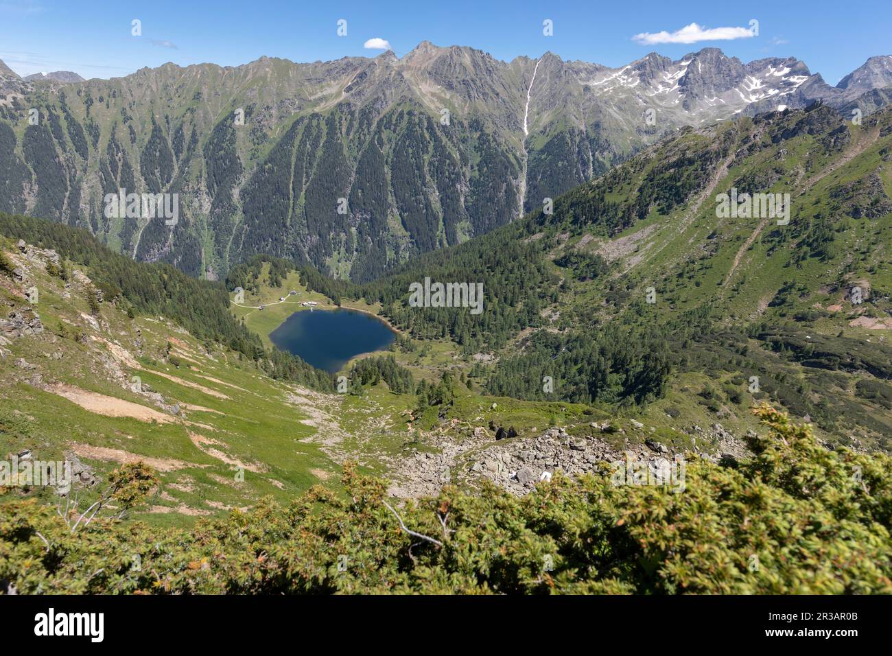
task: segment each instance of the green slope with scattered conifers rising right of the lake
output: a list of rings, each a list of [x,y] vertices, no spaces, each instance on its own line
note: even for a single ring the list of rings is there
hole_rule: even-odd
[[[886,448],[890,153],[889,109],[857,125],[814,104],[684,129],[552,214],[365,286],[305,280],[445,337],[492,394],[647,407],[688,436],[740,436],[747,405],[770,398],[831,442]],[[724,195],[764,194],[786,209],[723,212]],[[424,278],[479,281],[486,310],[409,307]]]

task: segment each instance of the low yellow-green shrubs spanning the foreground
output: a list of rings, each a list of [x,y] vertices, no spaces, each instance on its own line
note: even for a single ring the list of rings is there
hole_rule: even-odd
[[[615,486],[610,468],[516,498],[447,487],[392,508],[348,466],[347,494],[191,530],[97,519],[71,534],[34,501],[0,513],[0,588],[19,593],[892,593],[886,454],[830,451],[763,405],[735,468],[687,463],[685,488]],[[145,492],[145,488],[142,489]],[[141,494],[142,494],[141,492]],[[409,532],[411,531],[411,533]]]

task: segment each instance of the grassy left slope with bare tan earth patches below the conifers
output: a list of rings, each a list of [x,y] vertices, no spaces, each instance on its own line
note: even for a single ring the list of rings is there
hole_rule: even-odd
[[[2,218],[0,235],[28,237],[51,225]],[[198,338],[183,327],[188,314],[171,319],[137,308],[129,302],[128,290],[107,284],[108,262],[120,256],[106,252],[84,257],[68,239],[59,244],[76,259],[0,237],[4,465],[16,456],[21,461],[70,461],[78,489],[82,486],[81,501],[88,505],[96,498],[97,480],[105,480],[122,463],[145,461],[158,470],[160,486],[139,517],[167,525],[253,506],[268,495],[285,502],[317,483],[337,486],[337,470],[346,460],[391,478],[396,494],[414,496],[438,479],[440,458],[458,455],[433,457],[437,431],[426,425],[437,421],[437,408],[431,406],[427,417],[415,410],[417,396],[408,370],[392,365],[388,372],[386,359],[362,358],[345,371],[351,377],[349,394],[334,394],[333,387],[326,391],[321,384],[317,386],[323,391],[302,386],[301,376],[277,375],[270,353],[251,356],[208,334]],[[156,266],[120,260],[128,266],[128,278],[144,283],[146,271]],[[257,296],[248,296],[249,304],[276,286],[268,268],[261,269],[261,288]],[[282,278],[278,284],[297,288],[298,298],[304,297],[299,278]],[[144,286],[151,298],[151,286]],[[202,317],[202,294],[187,294],[199,320],[195,326],[211,323]],[[233,311],[244,316],[235,304]],[[401,358],[405,354],[396,353]],[[442,373],[442,360],[409,366],[425,386]],[[396,378],[389,376],[393,370]],[[401,380],[409,385],[398,388]],[[498,397],[499,409],[485,410],[493,397],[467,387],[450,394],[454,412],[485,413],[526,436],[549,421],[582,426],[606,416],[572,403]],[[426,428],[413,426],[415,412]],[[450,422],[451,428],[457,425]],[[420,451],[419,440],[425,442]],[[486,457],[491,436],[478,436],[477,443],[461,457]],[[614,453],[615,446],[610,448]],[[432,457],[416,466],[422,452]],[[584,467],[593,470],[597,462]],[[469,485],[479,483],[473,472],[468,478]],[[515,489],[510,481],[500,481],[515,492],[527,491],[530,482]],[[0,497],[37,496],[50,504],[60,500],[54,486],[8,488],[4,478]]]

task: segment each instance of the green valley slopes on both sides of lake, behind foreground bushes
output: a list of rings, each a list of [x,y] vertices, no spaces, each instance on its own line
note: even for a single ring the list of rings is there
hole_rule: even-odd
[[[737,467],[759,444],[748,410],[760,401],[813,423],[824,444],[888,449],[890,156],[892,110],[853,125],[815,104],[681,130],[558,197],[553,214],[365,285],[263,258],[237,268],[229,283],[248,290],[244,304],[298,288],[361,298],[401,328],[392,363],[344,370],[347,394],[296,386],[250,342],[196,339],[182,326],[197,333],[208,311],[184,307],[202,303],[166,306],[171,321],[154,284],[127,282],[151,269],[175,290],[179,272],[4,217],[0,439],[10,453],[74,454],[85,477],[151,459],[162,486],[143,516],[154,523],[291,497],[346,459],[400,496],[447,480],[524,494],[543,472],[598,473],[624,453]],[[789,222],[723,216],[717,201],[734,188],[789,193]],[[20,233],[39,238],[15,245]],[[41,247],[51,239],[85,262]],[[425,277],[482,282],[484,311],[410,307],[409,282]],[[191,284],[170,296],[226,306],[219,284]],[[141,306],[128,296],[139,288],[150,292]]]

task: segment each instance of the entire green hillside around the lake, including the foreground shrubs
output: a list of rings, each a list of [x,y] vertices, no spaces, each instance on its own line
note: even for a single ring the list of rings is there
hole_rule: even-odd
[[[74,463],[78,495],[0,488],[0,582],[888,592],[890,156],[889,109],[685,129],[362,284],[272,255],[198,280],[0,215],[0,454]],[[789,221],[723,215],[732,190],[789,194]],[[425,278],[483,311],[413,307]],[[399,336],[339,390],[268,342],[307,300]],[[669,459],[687,494],[611,483]]]

